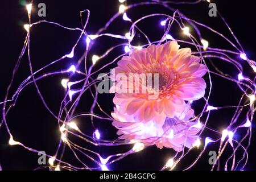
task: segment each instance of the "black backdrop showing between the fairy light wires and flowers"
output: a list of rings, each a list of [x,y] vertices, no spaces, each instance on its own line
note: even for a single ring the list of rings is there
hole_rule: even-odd
[[[81,27],[79,12],[80,10],[89,9],[91,11],[90,21],[86,31],[89,34],[95,33],[118,11],[119,2],[117,0],[101,0],[101,1],[35,1],[34,9],[32,10],[32,22],[36,22],[40,19],[37,16],[35,7],[38,3],[44,2],[47,6],[47,16],[45,19],[53,22],[63,24],[67,27]],[[128,3],[139,2],[128,0]],[[245,48],[247,56],[255,60],[255,6],[254,1],[213,1],[217,4],[217,9],[222,13],[230,27],[232,27],[234,34],[240,40],[243,48]],[[25,3],[26,4],[26,3]],[[224,35],[230,35],[228,29],[221,23],[220,18],[209,18],[208,16],[208,3],[201,2],[199,5],[184,5],[174,6],[179,8],[185,15],[192,19],[198,20],[199,22],[208,24],[210,27],[215,28],[220,32],[224,32]],[[161,11],[168,13],[159,6],[150,8],[140,8],[137,12],[129,15],[133,20],[137,19],[141,15],[150,14],[152,11]],[[129,14],[129,12],[128,12]],[[170,14],[170,13],[169,13]],[[85,16],[84,16],[85,17]],[[144,24],[143,30],[147,31],[148,35],[151,36],[152,40],[157,40],[159,37],[155,33],[156,31],[162,31],[162,27],[155,26],[161,19],[153,19],[152,22]],[[28,22],[27,10],[24,6],[24,1],[3,1],[0,5],[0,55],[1,55],[1,66],[0,66],[0,101],[3,101],[7,85],[10,82],[11,72],[13,71],[16,60],[18,59],[19,53],[22,49],[24,39],[26,37],[26,31],[23,28],[23,24]],[[123,21],[122,21],[123,22]],[[118,24],[114,23],[110,27],[109,32],[125,34],[129,24]],[[154,28],[155,29],[154,29]],[[75,44],[79,32],[67,31],[62,28],[52,26],[49,24],[39,24],[31,29],[31,59],[34,71],[43,67],[43,65],[51,63],[60,56],[63,56],[71,51],[73,44]],[[204,35],[203,35],[204,37]],[[213,39],[212,35],[207,35],[207,40],[210,42],[210,46],[221,47],[225,46],[218,42],[217,39]],[[89,53],[89,57],[93,54],[101,55],[106,48],[119,43],[118,40],[102,38],[100,43],[95,43],[94,47]],[[142,43],[142,42],[139,42]],[[81,56],[84,50],[85,43],[80,42],[76,49],[75,56],[72,59],[65,59],[61,63],[56,64],[53,67],[47,69],[47,71],[53,71],[57,69],[69,68],[70,65],[75,64],[76,60]],[[121,49],[119,50],[121,51]],[[96,68],[100,68],[105,63],[108,63],[113,59],[114,55],[110,55],[106,60],[98,63]],[[237,75],[237,72],[230,65],[218,65],[224,71],[230,74]],[[248,67],[248,65],[245,65]],[[82,68],[81,68],[82,69]],[[251,76],[251,69],[245,69],[245,75]],[[46,71],[46,72],[47,72]],[[106,69],[105,72],[108,72]],[[17,86],[29,75],[28,61],[25,53],[22,59],[22,64],[15,77],[14,86],[11,89],[11,94],[14,93]],[[40,90],[42,90],[43,96],[46,99],[50,109],[57,114],[60,107],[61,99],[64,95],[64,89],[60,85],[62,78],[68,75],[60,75],[56,77],[46,78],[38,83]],[[76,80],[78,77],[75,77]],[[207,78],[205,78],[207,80]],[[214,80],[216,79],[216,80]],[[241,91],[238,89],[236,84],[218,80],[214,78],[214,83],[217,85],[213,87],[213,96],[210,100],[210,104],[217,106],[224,105],[237,105],[237,100],[241,96]],[[57,122],[46,109],[44,109],[40,98],[35,92],[34,86],[28,86],[18,99],[18,103],[13,110],[10,111],[7,117],[11,133],[14,139],[24,143],[26,146],[36,148],[37,150],[46,151],[49,155],[54,155],[57,147],[57,142],[60,139],[60,133],[58,130]],[[110,113],[113,110],[112,95],[106,94],[101,95],[99,102],[104,109]],[[234,99],[235,98],[235,99]],[[77,113],[86,112],[90,108],[92,98],[85,94],[82,98],[81,104],[78,107]],[[199,104],[198,104],[199,105]],[[197,106],[195,104],[195,106]],[[2,106],[1,106],[2,109]],[[226,122],[232,117],[234,110],[227,109],[213,113],[209,120],[209,126],[216,130],[222,130],[226,126]],[[96,113],[101,114],[96,109]],[[2,119],[2,117],[0,117]],[[78,126],[84,133],[92,135],[93,129],[90,125],[89,118],[82,118]],[[111,123],[107,121],[95,121],[94,125],[101,131],[102,138],[114,139],[116,138],[115,129],[111,126]],[[253,125],[253,138],[251,140],[251,146],[249,148],[249,161],[246,166],[246,170],[255,170],[255,126]],[[205,136],[208,136],[204,134]],[[209,134],[210,135],[210,134]],[[210,135],[214,138],[214,134]],[[218,136],[219,137],[219,136]],[[239,134],[235,135],[239,138]],[[74,139],[76,140],[76,139]],[[2,126],[0,128],[0,164],[4,170],[31,170],[38,165],[38,155],[32,152],[24,150],[20,146],[9,146],[9,135],[6,133],[6,128]],[[81,142],[77,140],[77,142]],[[82,143],[85,147],[91,147],[87,144]],[[119,147],[119,148],[94,148],[102,156],[108,156],[109,154],[116,154],[117,152],[125,152],[130,149],[130,146]],[[209,150],[217,150],[214,147],[209,147]],[[64,160],[77,164],[75,158],[73,158],[71,151],[67,150],[64,155]],[[164,163],[174,154],[171,149],[164,148],[158,150],[156,147],[149,147],[143,152],[133,154],[127,158],[121,160],[121,162],[115,163],[110,166],[110,169],[145,169],[145,170],[158,170]],[[192,156],[196,156],[197,152],[192,153]],[[207,154],[203,156],[201,162],[195,166],[194,169],[209,170]],[[224,156],[225,158],[225,156]],[[185,163],[189,163],[193,158],[186,159]],[[84,162],[89,162],[88,159],[84,158]],[[179,166],[177,169],[182,169],[184,166]]]

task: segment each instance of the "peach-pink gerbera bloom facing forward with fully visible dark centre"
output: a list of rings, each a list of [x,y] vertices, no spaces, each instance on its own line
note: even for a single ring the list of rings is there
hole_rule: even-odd
[[[205,65],[200,64],[200,57],[191,54],[191,49],[179,47],[175,41],[151,45],[134,49],[130,56],[123,56],[118,61],[118,67],[114,68],[111,76],[115,84],[110,93],[115,93],[113,102],[127,121],[151,121],[162,127],[167,117],[174,118],[183,112],[185,101],[199,100],[204,96],[206,84],[202,77],[207,72]],[[146,92],[134,92],[138,89],[134,80],[119,78],[120,75],[129,77],[131,73],[157,74],[158,87],[152,88],[156,85],[154,81],[151,85],[139,81],[139,90],[146,89]],[[158,97],[150,98],[156,93]]]

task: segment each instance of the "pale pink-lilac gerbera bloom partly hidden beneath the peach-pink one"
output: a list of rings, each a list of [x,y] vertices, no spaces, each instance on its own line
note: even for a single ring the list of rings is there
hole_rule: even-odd
[[[119,107],[114,108],[112,123],[118,129],[117,134],[120,139],[127,142],[135,140],[146,146],[156,145],[159,148],[173,148],[175,151],[182,151],[183,147],[191,148],[199,139],[198,133],[201,130],[198,121],[189,121],[194,117],[193,109],[190,105],[185,106],[185,110],[179,117],[166,118],[162,127],[155,126],[153,121],[147,123],[126,120],[126,116],[119,112]]]

